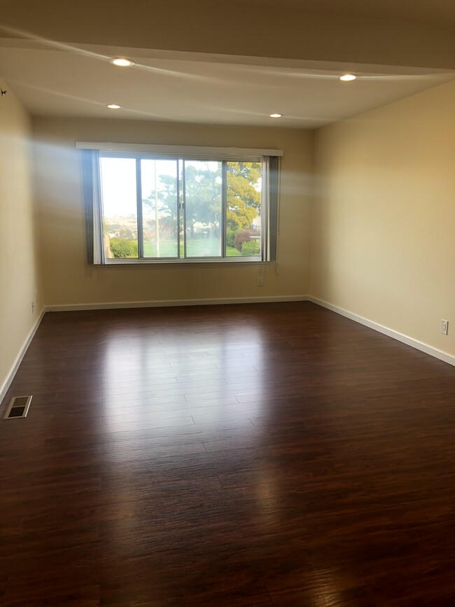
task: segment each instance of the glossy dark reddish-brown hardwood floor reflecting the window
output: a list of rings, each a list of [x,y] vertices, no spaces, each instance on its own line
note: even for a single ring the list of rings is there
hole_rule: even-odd
[[[2,606],[454,606],[455,368],[309,302],[46,314]]]

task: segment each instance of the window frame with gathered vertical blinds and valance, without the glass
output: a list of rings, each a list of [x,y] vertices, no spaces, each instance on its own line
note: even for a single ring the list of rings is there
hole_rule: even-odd
[[[260,150],[258,148],[245,149],[245,148],[199,148],[195,146],[149,146],[148,144],[94,144],[87,142],[76,142],[76,148],[83,151],[92,151],[96,153],[93,157],[91,167],[87,169],[87,161],[83,161],[83,185],[84,185],[84,197],[85,197],[85,216],[87,220],[87,260],[93,265],[115,266],[115,265],[175,265],[175,264],[213,264],[213,263],[253,263],[253,264],[264,264],[270,261],[276,260],[276,253],[271,253],[271,240],[274,240],[274,246],[276,249],[276,240],[278,238],[279,230],[276,225],[277,217],[279,215],[278,204],[279,204],[279,187],[276,188],[276,201],[275,201],[275,223],[270,221],[270,209],[269,209],[269,184],[265,183],[265,180],[269,180],[269,165],[266,164],[267,159],[276,158],[276,183],[279,183],[279,160],[280,156],[283,155],[281,150]],[[263,152],[263,153],[260,153]],[[103,204],[102,204],[102,190],[101,190],[101,159],[102,158],[133,158],[136,160],[136,183],[137,183],[137,240],[138,240],[138,257],[137,258],[106,258],[104,253],[104,246],[101,245],[101,255],[97,258],[97,246],[99,247],[100,241],[104,239],[104,216],[103,216]],[[217,257],[181,257],[180,256],[180,235],[178,237],[178,256],[177,257],[161,257],[151,258],[140,256],[144,254],[143,244],[141,245],[141,235],[143,234],[143,221],[142,221],[142,200],[141,200],[141,160],[205,160],[222,163],[222,216],[221,216],[221,256]],[[226,256],[226,230],[227,230],[227,166],[228,162],[260,162],[261,163],[261,243],[260,243],[260,256],[242,257],[242,256]],[[95,164],[96,163],[96,164]],[[184,165],[183,165],[184,166]],[[139,167],[139,168],[138,168]],[[177,179],[179,179],[179,164],[177,165]],[[267,171],[265,171],[267,167]],[[266,176],[267,173],[267,176]],[[184,172],[183,172],[184,174]],[[87,181],[92,179],[90,186],[87,186]],[[178,182],[179,183],[179,182]],[[178,192],[180,192],[180,185],[178,186]],[[180,215],[181,204],[184,204],[184,188],[183,188],[183,200],[179,200],[178,194],[178,216]],[[87,204],[88,203],[88,204]],[[91,209],[90,209],[91,204]],[[87,208],[88,207],[88,208]],[[185,207],[183,207],[185,208]],[[183,214],[184,216],[184,214]],[[273,228],[272,228],[273,226]],[[142,228],[142,229],[141,229]],[[180,217],[178,218],[177,229],[181,228]],[[270,230],[274,229],[274,237],[270,237]],[[97,230],[99,234],[97,235]],[[92,234],[90,235],[90,232]],[[179,234],[179,232],[178,232]],[[183,228],[183,251],[186,251],[186,230]],[[91,248],[91,250],[90,250]],[[272,247],[273,249],[273,247]]]

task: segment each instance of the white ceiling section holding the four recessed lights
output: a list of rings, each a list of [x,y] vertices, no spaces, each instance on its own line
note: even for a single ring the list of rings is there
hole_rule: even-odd
[[[111,57],[128,57],[120,68]],[[357,74],[342,83],[340,74]],[[315,128],[454,78],[418,68],[0,39],[0,76],[32,115]],[[106,104],[123,106],[118,111]],[[269,118],[272,112],[283,118]]]

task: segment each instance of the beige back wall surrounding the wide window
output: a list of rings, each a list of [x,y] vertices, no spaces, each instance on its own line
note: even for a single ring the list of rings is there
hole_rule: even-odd
[[[36,195],[46,305],[305,295],[309,286],[311,132],[124,120],[34,120]],[[75,141],[280,148],[279,273],[275,264],[93,267],[85,261]],[[264,286],[258,287],[258,276]]]

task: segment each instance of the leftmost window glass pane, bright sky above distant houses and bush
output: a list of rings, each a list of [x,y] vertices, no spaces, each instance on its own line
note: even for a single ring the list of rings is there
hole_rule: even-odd
[[[137,257],[136,160],[100,158],[106,258]]]

